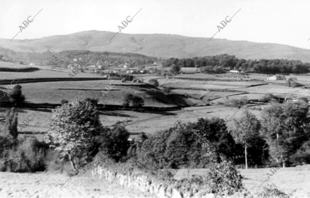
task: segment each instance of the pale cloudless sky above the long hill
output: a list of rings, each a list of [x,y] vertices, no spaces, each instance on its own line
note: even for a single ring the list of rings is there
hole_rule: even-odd
[[[132,17],[142,9],[121,33],[210,38],[218,31],[221,21],[236,13],[214,38],[310,49],[309,0],[0,1],[0,38],[4,39],[12,39],[22,22],[41,9],[15,39],[37,39],[89,30],[117,32],[117,27],[127,16]]]

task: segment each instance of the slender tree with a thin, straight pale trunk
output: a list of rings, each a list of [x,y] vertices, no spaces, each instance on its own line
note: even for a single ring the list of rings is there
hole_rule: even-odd
[[[237,143],[244,146],[245,169],[247,169],[247,147],[259,138],[260,122],[254,114],[246,109],[240,118],[233,118],[232,136]]]

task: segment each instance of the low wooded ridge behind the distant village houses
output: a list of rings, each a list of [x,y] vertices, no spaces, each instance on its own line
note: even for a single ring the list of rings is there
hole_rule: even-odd
[[[73,59],[81,58],[81,62],[86,61],[87,65],[96,63],[102,66],[117,67],[121,64],[128,66],[147,65],[159,60],[154,57],[148,57],[134,53],[116,53],[116,52],[91,52],[81,50],[69,50],[63,52],[43,52],[43,53],[24,53],[14,52],[12,50],[0,48],[0,61],[29,64],[36,63],[42,65],[54,65],[66,67]]]

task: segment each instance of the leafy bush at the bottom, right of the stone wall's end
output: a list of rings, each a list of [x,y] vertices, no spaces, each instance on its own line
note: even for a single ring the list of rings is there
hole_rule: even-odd
[[[223,160],[210,168],[207,179],[211,192],[219,195],[231,195],[244,189],[242,176],[231,161]]]

